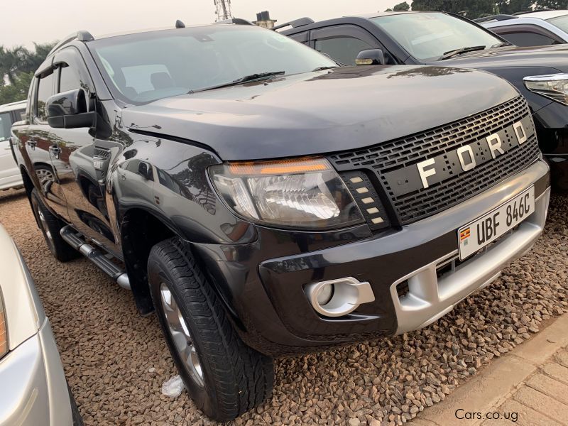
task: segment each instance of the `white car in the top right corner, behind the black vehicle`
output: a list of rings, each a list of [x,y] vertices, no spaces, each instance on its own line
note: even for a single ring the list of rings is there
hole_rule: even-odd
[[[568,11],[520,12],[475,21],[521,47],[568,43]]]

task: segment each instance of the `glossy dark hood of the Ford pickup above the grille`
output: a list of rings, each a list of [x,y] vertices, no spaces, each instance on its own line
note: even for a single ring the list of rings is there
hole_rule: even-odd
[[[474,70],[341,67],[128,107],[122,124],[204,144],[222,160],[283,158],[391,141],[517,96],[505,80]]]

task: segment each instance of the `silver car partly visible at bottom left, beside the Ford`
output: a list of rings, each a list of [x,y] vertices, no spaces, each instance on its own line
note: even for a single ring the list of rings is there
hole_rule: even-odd
[[[0,426],[82,425],[48,317],[0,225]]]

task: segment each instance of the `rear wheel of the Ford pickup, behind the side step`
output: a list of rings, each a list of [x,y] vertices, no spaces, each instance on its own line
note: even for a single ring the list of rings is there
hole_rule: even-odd
[[[35,221],[38,222],[45,243],[48,244],[53,257],[60,262],[67,262],[79,257],[79,252],[67,244],[59,234],[59,231],[65,224],[45,207],[38,190],[35,188],[31,191],[30,202]]]

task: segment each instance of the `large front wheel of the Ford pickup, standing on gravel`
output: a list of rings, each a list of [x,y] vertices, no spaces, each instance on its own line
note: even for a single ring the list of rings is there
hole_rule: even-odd
[[[197,408],[226,422],[271,396],[272,359],[242,342],[180,239],[153,246],[148,283],[168,348]]]

